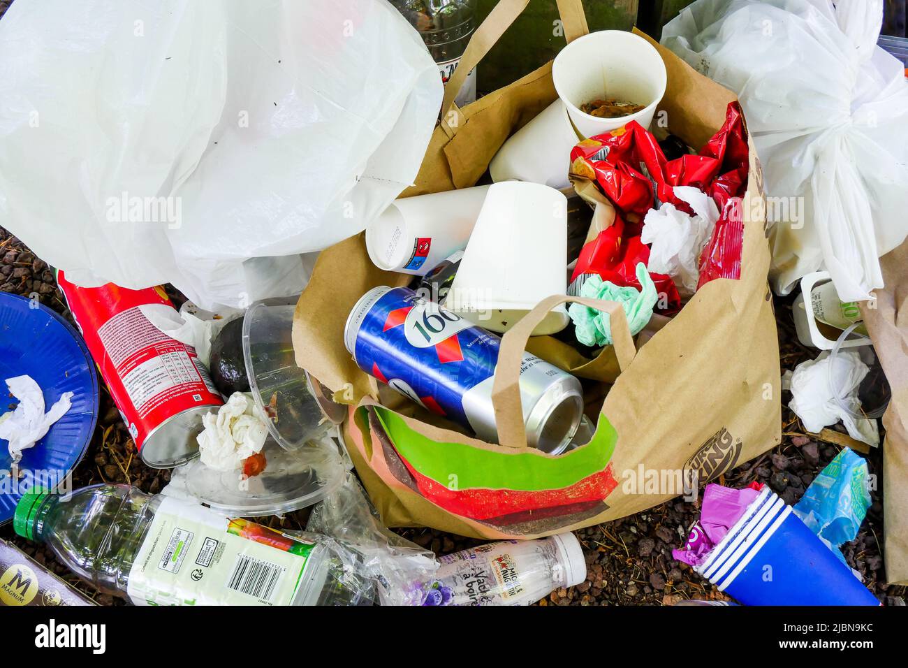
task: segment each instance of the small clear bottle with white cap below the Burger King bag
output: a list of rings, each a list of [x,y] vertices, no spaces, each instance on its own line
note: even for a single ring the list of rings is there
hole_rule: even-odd
[[[573,533],[479,545],[439,562],[424,605],[529,605],[587,579]]]

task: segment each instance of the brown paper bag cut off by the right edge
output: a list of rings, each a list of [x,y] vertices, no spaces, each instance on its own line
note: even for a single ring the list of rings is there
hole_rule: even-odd
[[[861,304],[893,399],[883,414],[883,524],[886,581],[908,584],[908,242],[880,260],[875,308]]]

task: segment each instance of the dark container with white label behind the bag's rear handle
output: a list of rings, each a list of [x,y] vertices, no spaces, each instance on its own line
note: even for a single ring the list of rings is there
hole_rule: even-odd
[[[391,0],[410,25],[419,31],[429,54],[439,65],[441,80],[447,84],[460,57],[476,30],[476,0]],[[476,100],[476,69],[454,98],[458,106]]]

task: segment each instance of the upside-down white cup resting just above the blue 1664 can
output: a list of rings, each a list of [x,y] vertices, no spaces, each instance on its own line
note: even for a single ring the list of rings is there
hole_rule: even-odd
[[[542,299],[567,294],[568,198],[548,185],[492,184],[445,299],[445,308],[492,332],[507,332]],[[568,324],[563,305],[533,334]]]

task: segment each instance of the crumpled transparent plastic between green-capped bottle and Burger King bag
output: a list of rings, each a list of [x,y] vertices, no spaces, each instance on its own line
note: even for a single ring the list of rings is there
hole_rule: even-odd
[[[434,553],[381,523],[352,473],[315,507],[306,531],[331,536],[342,548],[339,558],[351,581],[372,583],[382,605],[421,605],[439,568]]]

